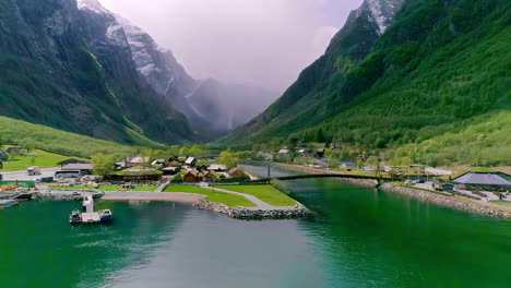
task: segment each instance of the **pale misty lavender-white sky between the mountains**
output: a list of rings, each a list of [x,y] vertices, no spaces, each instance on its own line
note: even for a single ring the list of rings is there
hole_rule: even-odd
[[[197,79],[283,92],[363,0],[99,0]]]

